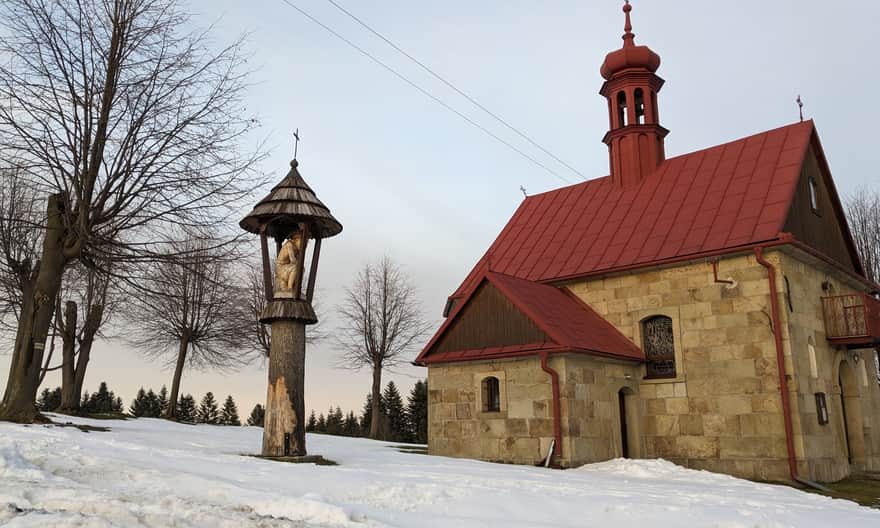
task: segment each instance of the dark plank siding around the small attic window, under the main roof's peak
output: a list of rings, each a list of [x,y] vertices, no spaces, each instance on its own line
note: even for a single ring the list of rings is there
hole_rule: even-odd
[[[811,178],[818,186],[818,211],[813,211],[810,204]],[[828,181],[830,175],[822,173],[816,154],[810,148],[804,159],[801,177],[791,202],[785,231],[839,262],[847,270],[855,272],[856,267],[844,235],[846,228],[837,216],[837,209],[828,189]]]

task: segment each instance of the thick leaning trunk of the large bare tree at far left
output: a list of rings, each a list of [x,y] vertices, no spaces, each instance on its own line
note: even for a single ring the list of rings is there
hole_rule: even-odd
[[[21,317],[15,338],[6,392],[0,403],[0,420],[32,423],[37,413],[37,389],[43,367],[43,352],[55,311],[55,297],[61,288],[64,257],[62,196],[49,197],[43,254],[33,284],[24,288]],[[30,281],[28,281],[30,282]]]

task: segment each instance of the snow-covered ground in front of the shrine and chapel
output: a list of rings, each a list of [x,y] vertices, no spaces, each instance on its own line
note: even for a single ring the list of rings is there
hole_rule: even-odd
[[[0,525],[880,526],[852,502],[661,460],[555,471],[310,435],[310,452],[340,463],[315,466],[241,456],[257,428],[74,421],[112,431],[0,423]]]

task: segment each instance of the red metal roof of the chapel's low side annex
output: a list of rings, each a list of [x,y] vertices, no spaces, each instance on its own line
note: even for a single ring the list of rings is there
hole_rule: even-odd
[[[483,280],[489,281],[498,288],[538,328],[547,334],[551,342],[432,354],[431,350],[434,345],[464,309],[468,300],[466,299],[459,303],[455,312],[446,319],[440,330],[416,359],[417,363],[490,359],[534,354],[535,352],[580,352],[640,361],[645,358],[642,351],[611,323],[569,293],[568,290],[494,272],[484,274]],[[469,293],[469,297],[474,293],[476,293],[476,288]]]

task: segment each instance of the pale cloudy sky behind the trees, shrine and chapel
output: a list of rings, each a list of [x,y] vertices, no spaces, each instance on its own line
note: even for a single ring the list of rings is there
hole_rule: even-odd
[[[327,0],[290,0],[413,82],[552,167],[565,167],[494,122]],[[621,45],[622,0],[337,0],[588,179],[608,172],[599,66]],[[880,121],[875,54],[880,3],[819,0],[634,0],[637,44],[663,58],[661,124],[668,157],[797,121],[795,98],[814,118],[842,194],[880,185],[873,125]],[[249,106],[274,147],[262,169],[280,180],[301,132],[300,170],[342,222],[324,243],[318,274],[324,326],[342,288],[368,261],[388,255],[440,322],[458,286],[522,200],[565,185],[443,109],[281,0],[192,0],[218,42],[249,32],[256,69]],[[268,189],[267,189],[268,190]],[[246,211],[243,211],[243,214]],[[254,251],[258,243],[253,241]],[[413,351],[413,358],[417,351]],[[333,368],[330,343],[310,347],[306,409],[360,412],[368,372]],[[9,357],[0,356],[0,389]],[[121,394],[170,385],[172,373],[121,342],[98,343],[86,377]],[[426,370],[393,379],[405,395]],[[49,376],[47,386],[60,383]],[[185,372],[183,393],[231,393],[245,417],[265,399],[266,365],[234,374]]]

